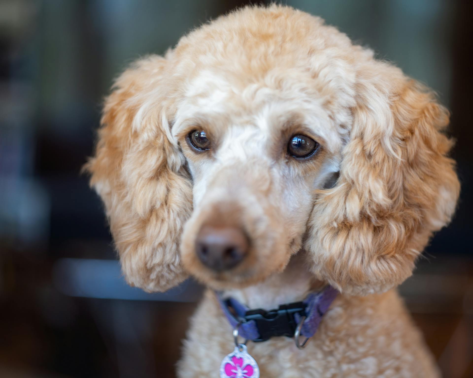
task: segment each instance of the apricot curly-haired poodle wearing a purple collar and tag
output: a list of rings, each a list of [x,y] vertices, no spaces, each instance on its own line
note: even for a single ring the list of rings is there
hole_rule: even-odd
[[[114,83],[86,170],[123,274],[208,287],[179,377],[439,376],[396,286],[455,210],[449,114],[373,55],[247,7]]]

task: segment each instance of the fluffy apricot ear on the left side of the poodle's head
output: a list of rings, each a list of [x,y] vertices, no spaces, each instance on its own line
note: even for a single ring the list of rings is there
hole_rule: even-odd
[[[186,278],[178,246],[192,210],[191,180],[166,119],[165,75],[166,59],[152,56],[116,80],[95,156],[85,166],[127,282],[149,292]]]

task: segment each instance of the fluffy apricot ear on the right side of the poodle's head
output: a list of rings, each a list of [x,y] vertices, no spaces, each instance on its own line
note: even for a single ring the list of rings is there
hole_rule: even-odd
[[[449,114],[432,93],[379,61],[360,69],[355,91],[340,177],[316,199],[306,249],[319,279],[363,295],[412,274],[460,185],[442,134]]]

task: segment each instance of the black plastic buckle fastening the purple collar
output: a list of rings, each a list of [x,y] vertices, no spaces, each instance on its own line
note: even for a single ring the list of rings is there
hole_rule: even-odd
[[[294,302],[281,304],[278,309],[270,311],[263,309],[246,311],[245,320],[254,320],[260,334],[260,338],[253,340],[253,342],[266,341],[273,336],[294,337],[297,328],[294,315],[306,316],[306,307],[307,304],[304,302]]]

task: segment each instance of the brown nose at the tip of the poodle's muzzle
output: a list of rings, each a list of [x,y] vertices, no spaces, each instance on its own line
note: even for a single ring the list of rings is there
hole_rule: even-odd
[[[197,236],[195,249],[205,266],[216,271],[228,270],[245,258],[248,239],[237,227],[205,225]]]

